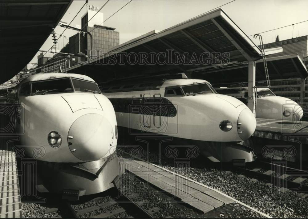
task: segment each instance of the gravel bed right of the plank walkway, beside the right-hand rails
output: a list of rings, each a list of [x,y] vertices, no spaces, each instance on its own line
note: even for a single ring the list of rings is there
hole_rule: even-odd
[[[237,177],[236,173],[227,173],[216,168],[206,168],[203,159],[193,161],[200,165],[190,168],[174,167],[175,160],[160,156],[157,152],[144,152],[142,159],[160,165],[172,172],[181,174],[194,181],[217,189],[271,217],[275,218],[307,218],[308,198],[297,197],[298,193],[289,191],[278,192],[278,187],[265,185],[263,181],[250,181],[249,177]],[[260,170],[265,172],[265,170]]]

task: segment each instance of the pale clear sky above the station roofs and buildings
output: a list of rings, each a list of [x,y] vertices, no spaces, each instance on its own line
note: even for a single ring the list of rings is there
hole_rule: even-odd
[[[102,25],[114,27],[120,32],[120,44],[127,42],[152,30],[165,30],[180,22],[203,14],[209,10],[224,5],[232,0],[156,0],[156,1],[132,1],[122,10],[114,14]],[[107,1],[89,0],[88,6],[101,8]],[[128,0],[109,1],[100,12],[104,14],[104,20],[127,4]],[[61,21],[71,22],[85,1],[73,1]],[[282,26],[308,20],[307,0],[236,0],[225,6],[221,6],[225,13],[247,35],[253,35]],[[81,25],[81,17],[86,13],[86,7],[79,12],[70,26]],[[103,22],[103,21],[102,21]],[[55,32],[61,34],[64,28],[57,26]],[[77,31],[66,30],[64,36],[58,40],[60,49],[68,42],[68,38]],[[263,43],[274,42],[276,36],[279,40],[308,35],[308,22],[273,30],[261,34]],[[57,35],[59,36],[59,35]],[[250,37],[259,45],[258,40]],[[41,47],[48,50],[52,46],[51,36]],[[37,62],[38,52],[30,63]]]

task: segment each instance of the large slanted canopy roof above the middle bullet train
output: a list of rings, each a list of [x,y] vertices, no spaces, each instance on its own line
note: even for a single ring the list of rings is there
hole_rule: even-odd
[[[169,49],[174,51],[174,53],[168,53]],[[127,56],[130,61],[128,63],[127,59],[120,59],[119,55],[114,56],[114,54],[121,52],[126,54],[146,53],[148,54],[146,60],[150,63],[151,53],[157,55],[162,52],[165,56],[155,56],[158,57],[160,64],[156,61],[153,65],[140,65],[138,62],[133,64],[136,63],[136,58],[140,58],[140,55],[139,57],[134,55]],[[213,65],[213,62],[180,63],[177,62],[176,58],[178,57],[176,57],[175,53],[178,57],[183,57],[184,53],[188,54],[188,60],[193,58],[193,56],[200,57],[204,53],[212,53],[212,55],[213,53],[229,53],[229,61],[231,62],[244,62],[261,58],[260,49],[223,10],[217,9],[166,30],[152,31],[116,46],[99,58],[93,59],[92,57],[92,60],[84,62],[82,65],[71,67],[69,72],[87,74],[100,82],[115,77],[126,78],[148,74],[188,73],[192,69]],[[94,53],[92,52],[92,54]],[[116,58],[116,62],[115,64],[108,65],[108,60],[112,60],[112,57]],[[204,56],[203,58],[208,57]]]

